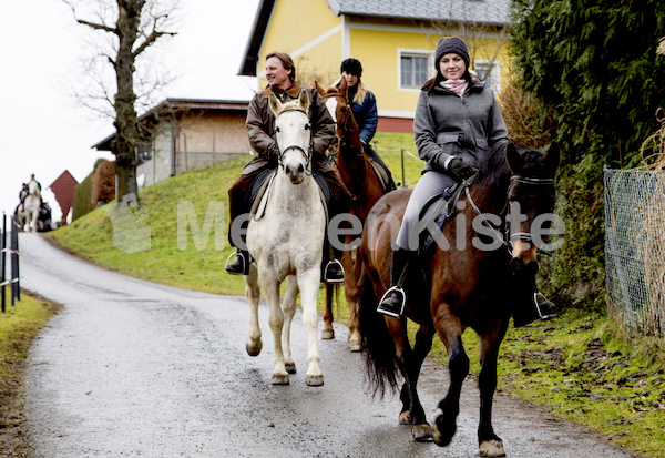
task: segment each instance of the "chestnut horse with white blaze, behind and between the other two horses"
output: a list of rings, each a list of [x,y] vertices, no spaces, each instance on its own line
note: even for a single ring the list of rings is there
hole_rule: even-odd
[[[328,111],[330,111],[330,115],[337,125],[336,136],[338,141],[331,146],[331,153],[337,157],[336,162],[339,175],[352,197],[350,214],[355,215],[360,223],[364,223],[370,208],[386,191],[381,186],[371,163],[364,152],[362,143],[360,142],[360,131],[354,118],[351,106],[347,101],[347,82],[342,78],[339,88],[334,86],[324,90],[316,82],[315,86],[326,101]],[[344,243],[350,246],[354,238],[358,237],[347,235]],[[357,315],[359,294],[352,252],[345,250],[340,262],[345,271],[344,291],[349,304],[350,314],[348,342],[352,352],[359,352],[361,349]],[[323,338],[335,337],[332,329],[332,293],[334,286],[326,284],[326,311],[324,312]]]

